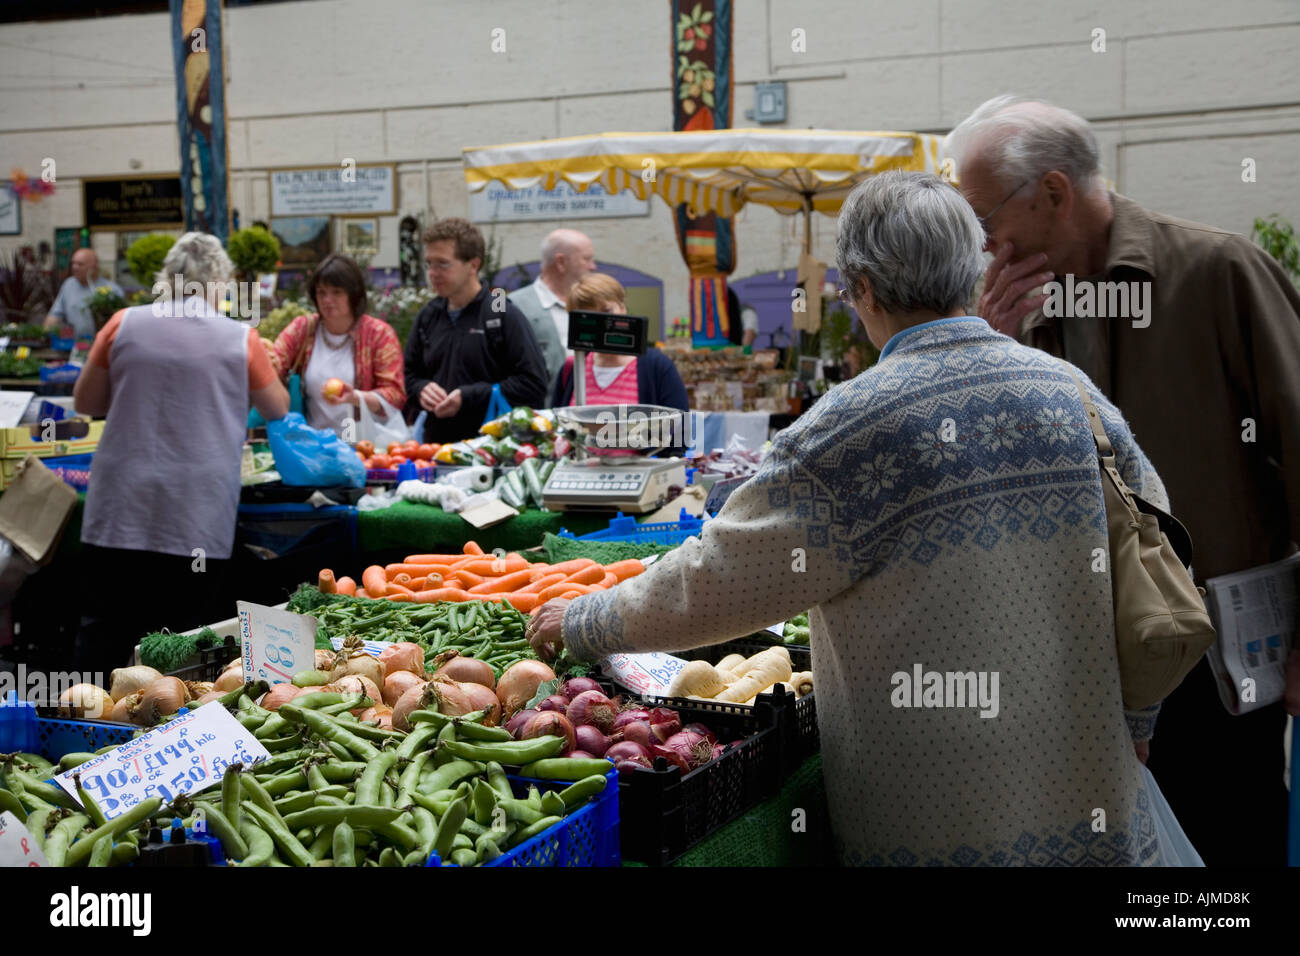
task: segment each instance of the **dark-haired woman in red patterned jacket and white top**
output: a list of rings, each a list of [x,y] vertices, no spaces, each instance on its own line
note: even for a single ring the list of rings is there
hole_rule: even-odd
[[[365,313],[365,273],[355,260],[332,254],[307,281],[316,315],[300,315],[276,338],[270,362],[281,380],[303,378],[303,411],[313,428],[341,434],[360,418],[361,402],[380,421],[406,406],[402,343],[382,319]],[[338,378],[342,389],[326,389]]]

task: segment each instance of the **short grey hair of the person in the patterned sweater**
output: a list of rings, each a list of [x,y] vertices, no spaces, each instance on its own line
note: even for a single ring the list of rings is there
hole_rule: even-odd
[[[961,193],[931,173],[890,172],[844,200],[835,261],[846,289],[870,281],[887,312],[948,315],[970,299],[983,247],[984,230]]]

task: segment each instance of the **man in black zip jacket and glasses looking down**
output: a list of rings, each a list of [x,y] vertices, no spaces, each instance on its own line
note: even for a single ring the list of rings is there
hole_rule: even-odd
[[[407,414],[429,412],[422,441],[464,441],[478,434],[493,385],[511,406],[540,407],[546,364],[524,313],[478,278],[482,233],[468,220],[443,219],[422,238],[438,298],[420,310],[407,338]]]

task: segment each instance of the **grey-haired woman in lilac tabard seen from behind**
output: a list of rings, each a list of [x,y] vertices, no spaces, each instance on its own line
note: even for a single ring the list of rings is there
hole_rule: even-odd
[[[151,631],[229,615],[212,604],[234,545],[248,406],[268,421],[289,411],[256,330],[217,311],[233,272],[214,235],[182,235],[157,280],[205,295],[117,312],[77,378],[77,411],[108,418],[82,520],[77,670],[108,674]]]

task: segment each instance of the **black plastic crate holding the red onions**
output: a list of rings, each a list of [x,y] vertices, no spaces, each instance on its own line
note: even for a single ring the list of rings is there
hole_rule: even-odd
[[[629,696],[621,687],[606,689]],[[654,770],[638,767],[619,774],[623,858],[664,866],[772,797],[785,777],[785,748],[781,717],[770,701],[742,706],[650,698],[646,704],[671,706],[681,715],[682,726],[702,723],[719,743],[740,741],[688,774],[662,757],[655,760]]]

